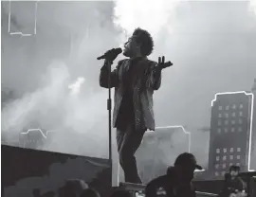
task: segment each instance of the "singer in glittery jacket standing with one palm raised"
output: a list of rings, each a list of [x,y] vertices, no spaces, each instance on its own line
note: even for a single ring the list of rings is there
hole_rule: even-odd
[[[147,59],[154,47],[150,33],[135,29],[124,44],[123,55],[128,59],[119,61],[111,72],[110,87],[115,87],[113,125],[117,128],[119,163],[124,170],[125,182],[141,183],[137,172],[135,152],[147,129],[155,130],[153,94],[161,84],[162,68],[173,65],[165,63],[164,56],[158,63]],[[108,88],[108,68],[101,67],[101,87]]]

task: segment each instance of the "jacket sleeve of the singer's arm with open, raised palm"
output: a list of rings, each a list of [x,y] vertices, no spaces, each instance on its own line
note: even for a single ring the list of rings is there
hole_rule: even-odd
[[[157,66],[157,63],[150,63],[150,69],[147,79],[147,87],[154,90],[158,90],[161,86],[162,74],[161,69]]]

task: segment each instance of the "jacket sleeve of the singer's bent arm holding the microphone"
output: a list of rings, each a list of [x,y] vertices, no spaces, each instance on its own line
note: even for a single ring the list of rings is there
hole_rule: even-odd
[[[110,74],[110,88],[117,87],[119,85],[119,67],[122,62],[123,61],[119,61],[118,66]],[[109,88],[108,67],[105,64],[101,67],[100,86],[104,88]]]

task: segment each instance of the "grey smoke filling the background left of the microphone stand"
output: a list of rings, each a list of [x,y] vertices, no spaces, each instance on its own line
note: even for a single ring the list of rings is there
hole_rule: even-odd
[[[20,31],[33,25],[32,3],[11,3]],[[28,129],[54,130],[60,134],[44,150],[106,157],[107,94],[99,91],[96,57],[118,43],[119,29],[109,23],[113,4],[39,2],[37,34],[26,38],[9,35],[8,2],[3,9],[2,86],[15,93],[2,109],[7,140]]]

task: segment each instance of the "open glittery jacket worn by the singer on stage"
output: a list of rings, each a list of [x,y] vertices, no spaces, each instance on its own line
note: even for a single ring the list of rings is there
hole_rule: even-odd
[[[115,87],[115,106],[113,112],[113,126],[117,126],[117,117],[123,98],[124,73],[129,69],[131,60],[119,61],[118,66],[111,72],[110,87]],[[153,94],[161,85],[161,69],[157,63],[144,58],[137,62],[131,82],[134,89],[133,103],[135,110],[136,128],[155,130],[155,116],[153,110]],[[108,88],[108,69],[102,66],[100,74],[101,87]]]

